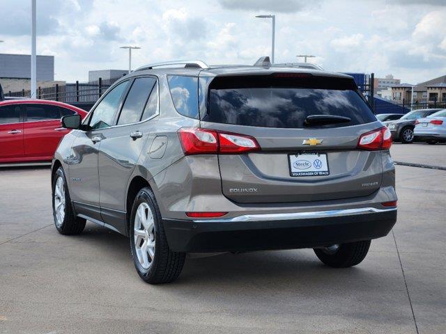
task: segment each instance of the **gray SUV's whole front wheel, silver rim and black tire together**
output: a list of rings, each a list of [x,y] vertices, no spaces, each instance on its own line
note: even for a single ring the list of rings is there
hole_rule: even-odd
[[[85,228],[86,220],[75,216],[72,210],[70,193],[66,184],[63,168],[59,167],[54,173],[52,184],[52,202],[54,225],[61,234],[79,234]]]

